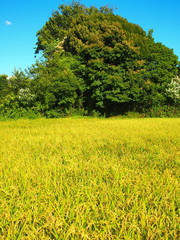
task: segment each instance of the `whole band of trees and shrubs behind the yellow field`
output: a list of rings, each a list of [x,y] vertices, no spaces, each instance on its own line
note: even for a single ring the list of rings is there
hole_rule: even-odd
[[[0,75],[1,116],[178,116],[178,57],[152,33],[108,7],[60,5],[37,33],[36,64]]]

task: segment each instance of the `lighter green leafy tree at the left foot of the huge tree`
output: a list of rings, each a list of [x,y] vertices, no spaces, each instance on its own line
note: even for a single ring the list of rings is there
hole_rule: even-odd
[[[38,110],[66,112],[72,107],[80,107],[83,82],[75,75],[78,65],[76,58],[56,53],[54,58],[37,62],[30,69]]]

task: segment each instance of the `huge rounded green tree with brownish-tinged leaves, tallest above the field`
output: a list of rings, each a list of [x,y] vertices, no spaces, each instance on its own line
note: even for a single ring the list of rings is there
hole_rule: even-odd
[[[66,107],[68,99],[72,106],[79,97],[85,109],[106,114],[151,108],[166,101],[165,89],[177,74],[171,49],[107,7],[60,5],[37,36],[36,53],[43,54],[48,79],[58,85],[54,101]],[[76,60],[76,69],[64,64],[67,56],[68,62]]]

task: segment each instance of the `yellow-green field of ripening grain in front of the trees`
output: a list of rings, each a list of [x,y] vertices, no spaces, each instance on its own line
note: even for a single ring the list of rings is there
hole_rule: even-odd
[[[179,119],[0,122],[0,239],[179,239]]]

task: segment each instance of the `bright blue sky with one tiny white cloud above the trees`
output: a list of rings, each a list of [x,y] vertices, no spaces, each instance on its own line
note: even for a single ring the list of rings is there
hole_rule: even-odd
[[[36,33],[54,10],[66,0],[0,0],[0,74],[12,75],[35,62]],[[180,0],[81,0],[86,6],[108,5],[115,14],[154,29],[156,42],[162,42],[180,60]],[[117,8],[117,9],[116,9]]]

